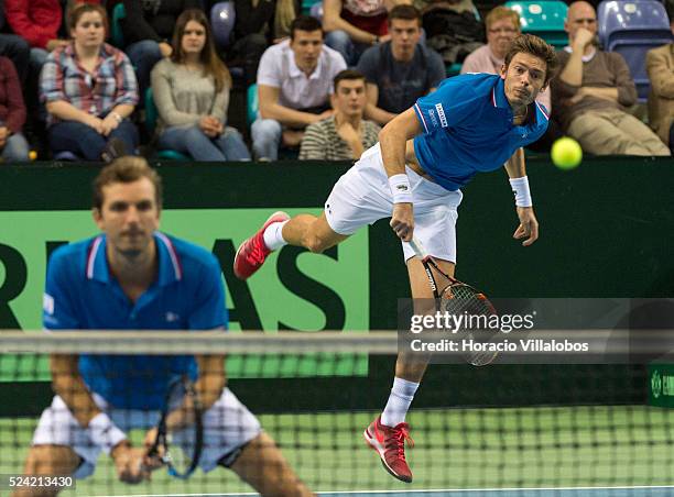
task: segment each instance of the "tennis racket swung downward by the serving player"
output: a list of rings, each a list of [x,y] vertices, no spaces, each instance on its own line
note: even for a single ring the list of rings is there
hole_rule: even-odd
[[[412,250],[416,256],[421,259],[426,277],[428,278],[428,285],[433,290],[433,298],[435,299],[435,309],[442,313],[448,314],[467,314],[467,316],[496,316],[496,309],[489,301],[489,299],[481,291],[472,288],[470,285],[459,281],[458,279],[449,276],[435,259],[428,255],[423,245],[415,238],[410,242]],[[433,275],[433,269],[446,279],[446,283],[438,284]],[[458,330],[461,332],[465,330]],[[480,343],[490,342],[498,332],[488,332],[485,330],[470,330],[470,338]],[[485,366],[491,363],[498,352],[493,351],[474,351],[466,354],[466,361],[474,366]]]

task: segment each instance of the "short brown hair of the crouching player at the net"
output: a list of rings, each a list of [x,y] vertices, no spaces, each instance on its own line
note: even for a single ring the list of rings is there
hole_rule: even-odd
[[[139,179],[148,178],[154,185],[154,200],[157,209],[161,209],[163,201],[162,178],[150,167],[143,157],[127,155],[116,158],[107,165],[96,179],[94,179],[94,208],[100,210],[104,205],[104,187],[113,183],[134,183]]]

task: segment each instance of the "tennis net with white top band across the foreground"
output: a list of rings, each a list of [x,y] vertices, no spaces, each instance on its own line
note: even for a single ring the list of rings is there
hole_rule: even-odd
[[[2,475],[23,472],[40,415],[52,402],[50,355],[132,356],[137,371],[106,375],[132,374],[142,384],[153,374],[143,365],[156,364],[144,357],[228,354],[229,388],[316,492],[674,484],[674,415],[648,405],[651,378],[643,365],[431,365],[406,419],[415,445],[406,451],[414,482],[405,485],[381,467],[362,438],[391,388],[395,332],[3,332],[0,351]],[[102,374],[89,367],[89,377]],[[149,398],[162,388],[139,391]],[[140,446],[144,433],[132,430],[130,438]],[[70,492],[251,489],[221,467],[184,481],[157,470],[131,486],[101,455],[95,473]]]

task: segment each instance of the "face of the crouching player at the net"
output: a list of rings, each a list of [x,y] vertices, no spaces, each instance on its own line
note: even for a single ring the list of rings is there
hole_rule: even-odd
[[[159,229],[160,210],[154,185],[148,178],[112,183],[102,188],[104,202],[94,220],[117,253],[128,257],[146,253]]]

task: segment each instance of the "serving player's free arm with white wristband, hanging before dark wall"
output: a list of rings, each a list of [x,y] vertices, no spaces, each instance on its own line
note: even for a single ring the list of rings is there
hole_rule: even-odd
[[[523,246],[529,246],[539,239],[539,221],[533,211],[533,201],[526,178],[524,150],[518,148],[506,163],[506,170],[510,178],[510,186],[515,196],[515,206],[520,224],[512,234],[515,240],[525,239]]]

